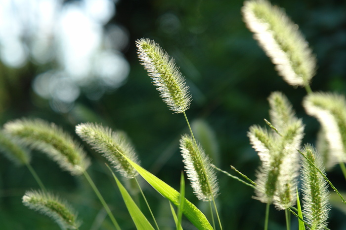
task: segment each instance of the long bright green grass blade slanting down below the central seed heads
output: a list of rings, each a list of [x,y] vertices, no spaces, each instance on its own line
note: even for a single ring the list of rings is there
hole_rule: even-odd
[[[148,172],[129,158],[124,158],[137,170],[137,172],[162,196],[170,200],[174,205],[179,205],[180,193],[171,186],[160,180],[158,177]],[[213,230],[206,216],[190,201],[184,198],[182,213],[199,230]]]

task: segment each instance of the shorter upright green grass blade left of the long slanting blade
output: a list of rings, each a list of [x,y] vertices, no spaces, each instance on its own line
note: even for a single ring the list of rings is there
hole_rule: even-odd
[[[144,214],[140,211],[140,209],[138,208],[136,203],[133,201],[133,199],[130,196],[130,194],[128,193],[128,191],[121,184],[121,182],[118,180],[118,178],[115,176],[115,174],[113,173],[112,170],[111,170],[111,172],[113,174],[115,181],[117,182],[120,193],[124,199],[126,207],[129,210],[130,216],[131,216],[137,230],[154,230],[153,226],[150,224],[150,222],[147,220],[147,218],[144,216]]]

